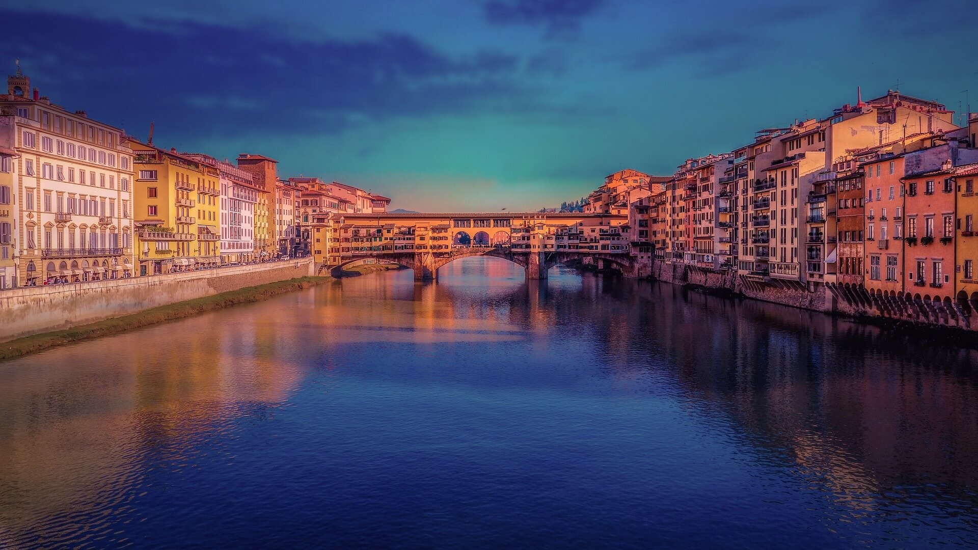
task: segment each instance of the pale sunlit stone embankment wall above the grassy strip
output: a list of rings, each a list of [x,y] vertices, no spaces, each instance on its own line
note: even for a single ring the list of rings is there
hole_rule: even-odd
[[[311,257],[206,271],[0,291],[0,342],[159,305],[313,275]]]

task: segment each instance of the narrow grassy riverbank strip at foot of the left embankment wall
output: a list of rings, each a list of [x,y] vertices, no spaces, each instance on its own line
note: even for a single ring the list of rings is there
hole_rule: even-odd
[[[159,307],[140,311],[139,313],[106,319],[97,323],[89,323],[61,331],[19,338],[0,344],[0,360],[20,357],[27,353],[33,353],[61,344],[110,336],[139,327],[156,325],[156,323],[183,319],[184,317],[220,309],[236,303],[261,301],[281,294],[322,285],[330,280],[332,280],[330,277],[301,277],[298,279],[289,279],[288,281],[259,285],[257,287],[246,287],[237,291],[230,291],[205,298],[160,305]]]

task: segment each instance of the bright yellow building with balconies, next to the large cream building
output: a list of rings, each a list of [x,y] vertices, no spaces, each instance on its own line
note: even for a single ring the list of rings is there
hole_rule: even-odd
[[[140,275],[220,264],[219,172],[175,150],[129,140]]]

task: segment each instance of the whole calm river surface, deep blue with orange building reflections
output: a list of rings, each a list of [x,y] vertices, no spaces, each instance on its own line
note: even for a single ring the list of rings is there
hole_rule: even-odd
[[[0,364],[0,547],[970,546],[974,361],[495,258],[346,279]]]

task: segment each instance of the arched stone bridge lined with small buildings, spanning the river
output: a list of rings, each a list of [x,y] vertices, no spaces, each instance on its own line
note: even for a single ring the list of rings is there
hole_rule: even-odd
[[[558,263],[583,262],[623,272],[633,269],[628,217],[602,213],[338,213],[323,220],[317,261],[334,277],[365,258],[393,261],[415,280],[463,257],[507,259],[527,279],[546,279]]]

